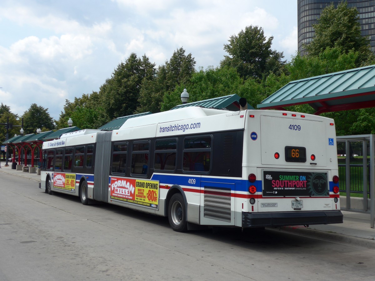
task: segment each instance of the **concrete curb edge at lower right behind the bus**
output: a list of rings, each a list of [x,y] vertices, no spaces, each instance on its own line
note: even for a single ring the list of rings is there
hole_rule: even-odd
[[[348,236],[345,234],[326,232],[311,228],[305,228],[304,226],[283,226],[276,229],[270,229],[272,231],[281,231],[293,233],[300,236],[310,236],[320,240],[329,240],[341,244],[350,244],[353,246],[361,246],[375,250],[375,240],[368,238],[361,238],[355,236]]]

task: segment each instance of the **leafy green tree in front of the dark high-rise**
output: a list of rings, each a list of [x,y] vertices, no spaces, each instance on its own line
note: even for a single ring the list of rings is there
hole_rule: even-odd
[[[345,54],[351,50],[359,52],[356,67],[366,61],[374,60],[371,52],[370,40],[361,34],[361,25],[356,7],[349,8],[347,2],[333,3],[325,7],[317,24],[312,25],[315,30],[313,40],[305,45],[309,55],[319,55],[326,48],[338,47]]]

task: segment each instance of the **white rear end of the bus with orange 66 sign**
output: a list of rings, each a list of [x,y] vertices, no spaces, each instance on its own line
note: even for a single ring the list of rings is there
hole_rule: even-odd
[[[248,111],[244,135],[242,227],[342,223],[332,119]]]

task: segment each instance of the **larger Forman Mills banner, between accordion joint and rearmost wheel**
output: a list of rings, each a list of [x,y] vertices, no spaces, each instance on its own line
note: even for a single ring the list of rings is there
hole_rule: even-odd
[[[111,177],[111,199],[157,209],[159,181]]]

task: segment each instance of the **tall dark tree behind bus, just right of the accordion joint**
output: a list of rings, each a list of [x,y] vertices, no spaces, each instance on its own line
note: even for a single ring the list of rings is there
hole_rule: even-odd
[[[154,66],[148,57],[143,55],[142,58],[138,58],[135,53],[130,54],[125,63],[118,64],[111,78],[105,81],[99,91],[110,119],[135,113],[139,106],[141,83],[153,79]]]

